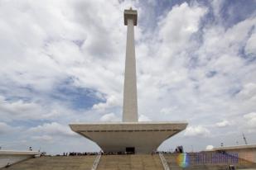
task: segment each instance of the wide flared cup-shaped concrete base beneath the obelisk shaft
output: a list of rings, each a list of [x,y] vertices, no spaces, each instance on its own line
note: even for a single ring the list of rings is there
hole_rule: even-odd
[[[181,130],[185,122],[103,122],[72,124],[76,133],[93,140],[104,152],[152,153]]]

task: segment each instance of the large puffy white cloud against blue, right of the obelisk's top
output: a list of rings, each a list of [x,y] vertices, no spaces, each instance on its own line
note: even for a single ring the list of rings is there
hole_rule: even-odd
[[[190,7],[186,2],[172,7],[160,24],[160,36],[167,43],[167,47],[171,49],[170,52],[186,48],[191,35],[198,31],[200,18],[205,15],[206,11],[204,7]]]

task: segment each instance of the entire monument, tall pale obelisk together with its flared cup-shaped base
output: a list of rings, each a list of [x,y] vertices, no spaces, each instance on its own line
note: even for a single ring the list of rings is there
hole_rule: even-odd
[[[70,124],[71,130],[94,141],[104,152],[151,153],[172,135],[186,129],[186,122],[138,122],[134,26],[137,11],[124,10],[127,45],[123,90],[123,122]]]

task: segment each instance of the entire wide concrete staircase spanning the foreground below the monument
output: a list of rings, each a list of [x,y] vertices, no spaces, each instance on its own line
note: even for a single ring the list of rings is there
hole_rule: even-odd
[[[230,163],[196,163],[196,154],[189,153],[190,165],[181,168],[176,158],[178,153],[163,154],[171,170],[195,169],[217,170],[227,169]],[[20,163],[13,164],[9,168],[1,170],[91,170],[96,155],[92,156],[43,156],[31,158]],[[236,169],[256,168],[256,163],[239,160],[234,164]],[[158,154],[130,154],[130,155],[102,155],[99,159],[97,170],[163,170]]]

